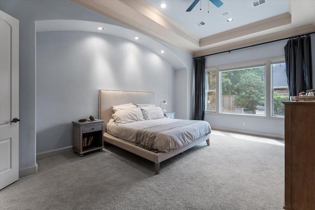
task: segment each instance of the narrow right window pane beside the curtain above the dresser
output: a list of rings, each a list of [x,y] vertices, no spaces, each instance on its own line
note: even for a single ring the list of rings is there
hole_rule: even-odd
[[[285,73],[284,62],[272,62],[272,105],[273,116],[284,116],[284,104],[289,100],[289,89]]]

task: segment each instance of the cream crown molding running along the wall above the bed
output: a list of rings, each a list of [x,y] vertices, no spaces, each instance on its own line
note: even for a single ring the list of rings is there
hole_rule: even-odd
[[[129,27],[133,30],[139,31],[145,35],[148,35],[149,37],[152,37],[158,41],[161,41],[163,43],[166,43],[172,47],[175,47],[179,50],[185,51],[190,53],[191,55],[193,54],[193,51],[189,50],[188,48],[184,47],[181,44],[178,44],[175,41],[170,40],[169,38],[166,38],[165,36],[162,36],[132,20],[129,20],[126,18],[124,15],[121,15],[114,10],[111,10],[109,8],[116,8],[120,7],[121,10],[123,11],[128,11],[130,7],[128,7],[125,3],[123,3],[120,0],[71,0],[85,8],[88,8],[92,11],[97,12],[98,14],[101,14],[105,17],[108,17],[126,27]],[[125,5],[125,6],[124,6]],[[124,10],[124,7],[126,10]],[[123,8],[123,9],[122,9]]]

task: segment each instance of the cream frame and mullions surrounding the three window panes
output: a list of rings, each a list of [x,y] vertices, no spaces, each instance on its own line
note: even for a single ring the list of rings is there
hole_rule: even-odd
[[[216,115],[226,115],[226,116],[242,116],[249,118],[268,118],[268,119],[284,119],[284,116],[273,115],[273,75],[271,64],[275,62],[285,62],[284,56],[260,59],[260,60],[250,60],[238,63],[231,63],[225,65],[206,67],[205,72],[216,71],[216,111],[207,111],[206,114],[216,114]],[[265,115],[254,115],[254,114],[242,114],[242,113],[222,113],[221,111],[221,72],[230,71],[241,68],[256,67],[259,65],[265,65]],[[206,92],[205,92],[206,94]]]

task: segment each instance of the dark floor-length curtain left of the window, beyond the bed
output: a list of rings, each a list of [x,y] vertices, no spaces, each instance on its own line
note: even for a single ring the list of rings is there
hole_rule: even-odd
[[[194,120],[204,120],[205,117],[205,61],[204,57],[193,60],[195,67]]]

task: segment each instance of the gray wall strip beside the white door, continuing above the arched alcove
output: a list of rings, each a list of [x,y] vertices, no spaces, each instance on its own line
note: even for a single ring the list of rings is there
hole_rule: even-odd
[[[35,21],[50,19],[114,21],[91,12],[71,1],[1,0],[0,9],[20,21],[20,82],[19,82],[19,168],[36,165],[35,110]]]

